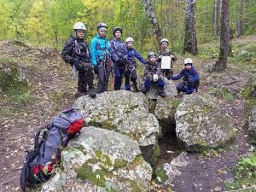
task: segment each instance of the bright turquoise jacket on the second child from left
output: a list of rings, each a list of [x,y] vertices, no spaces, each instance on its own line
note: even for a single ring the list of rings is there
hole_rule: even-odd
[[[108,38],[102,38],[97,34],[90,42],[90,55],[93,66],[96,66],[99,61],[104,61],[107,56],[110,56]]]

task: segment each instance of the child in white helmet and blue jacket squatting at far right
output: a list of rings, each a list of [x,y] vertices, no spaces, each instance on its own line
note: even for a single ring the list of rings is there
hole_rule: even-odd
[[[177,94],[185,92],[187,94],[192,94],[200,82],[198,73],[196,72],[195,67],[193,67],[193,61],[190,58],[184,60],[183,70],[175,77],[172,77],[172,80],[178,80],[183,77],[183,82],[177,84]]]

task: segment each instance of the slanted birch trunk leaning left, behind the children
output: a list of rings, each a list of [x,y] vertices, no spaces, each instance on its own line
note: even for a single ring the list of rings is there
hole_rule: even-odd
[[[148,19],[150,20],[150,23],[153,26],[154,36],[155,36],[158,44],[160,44],[160,40],[162,38],[162,32],[161,32],[159,23],[157,21],[156,15],[154,14],[154,9],[152,8],[150,0],[143,0],[143,4],[144,4],[145,10],[146,10],[146,13],[148,15]]]

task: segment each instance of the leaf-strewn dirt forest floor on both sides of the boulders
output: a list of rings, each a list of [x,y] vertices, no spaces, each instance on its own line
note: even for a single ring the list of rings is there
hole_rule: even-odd
[[[0,65],[1,61],[12,59],[25,67],[31,88],[19,95],[0,92],[0,191],[20,191],[20,168],[26,149],[32,148],[35,132],[64,108],[73,105],[77,85],[72,80],[71,67],[61,61],[55,49],[31,48],[9,42],[0,43],[0,47]],[[190,163],[180,168],[182,175],[175,177],[170,186],[161,186],[153,181],[152,191],[225,191],[227,182],[235,179],[232,167],[252,148],[246,126],[248,103],[242,93],[250,75],[256,70],[256,35],[233,40],[234,57],[224,73],[206,73],[205,70],[207,63],[217,61],[218,47],[215,43],[203,44],[199,49],[203,51],[198,56],[179,55],[174,73],[183,67],[185,57],[192,57],[201,75],[199,94],[207,92],[214,96],[219,111],[227,113],[236,125],[237,137],[228,148],[187,154]],[[247,61],[248,57],[250,61]],[[175,151],[175,154],[182,152],[177,148],[175,137],[170,138],[160,141],[161,162],[170,163],[177,156],[166,154],[167,150]]]

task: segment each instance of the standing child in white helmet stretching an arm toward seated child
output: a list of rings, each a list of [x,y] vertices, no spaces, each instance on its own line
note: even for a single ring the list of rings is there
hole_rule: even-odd
[[[128,51],[128,61],[125,69],[125,90],[131,90],[130,81],[133,85],[133,90],[136,92],[139,91],[137,88],[137,63],[141,61],[143,64],[146,64],[147,61],[144,60],[142,55],[139,55],[137,49],[133,47],[134,40],[129,37],[125,40],[126,48]]]

